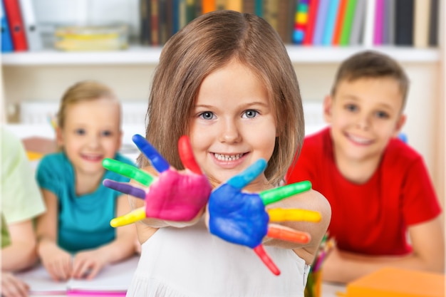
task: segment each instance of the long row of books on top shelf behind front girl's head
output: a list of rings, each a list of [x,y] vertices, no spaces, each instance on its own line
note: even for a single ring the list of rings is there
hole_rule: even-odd
[[[195,17],[218,9],[257,14],[284,43],[437,46],[439,0],[140,0],[140,42],[162,46]]]

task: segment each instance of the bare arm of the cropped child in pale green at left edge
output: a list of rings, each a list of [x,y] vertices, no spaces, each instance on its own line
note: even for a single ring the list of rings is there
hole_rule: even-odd
[[[11,244],[1,249],[1,270],[19,271],[32,266],[37,260],[32,220],[9,224],[8,230]]]

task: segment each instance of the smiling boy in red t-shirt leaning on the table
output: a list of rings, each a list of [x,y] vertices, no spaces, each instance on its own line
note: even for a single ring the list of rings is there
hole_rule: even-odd
[[[331,204],[336,240],[323,279],[346,283],[384,266],[443,272],[442,212],[422,156],[399,140],[408,77],[374,51],[344,61],[287,183],[310,180]]]

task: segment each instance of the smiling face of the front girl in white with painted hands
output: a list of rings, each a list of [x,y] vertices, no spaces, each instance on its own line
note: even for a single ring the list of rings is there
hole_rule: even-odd
[[[212,184],[227,181],[259,158],[268,161],[275,138],[273,106],[249,68],[232,61],[204,78],[192,110],[190,140]],[[261,174],[251,187],[264,182]]]

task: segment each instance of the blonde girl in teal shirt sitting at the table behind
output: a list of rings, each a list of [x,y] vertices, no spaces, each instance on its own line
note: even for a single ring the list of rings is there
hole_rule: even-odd
[[[130,212],[128,199],[102,184],[129,180],[102,166],[104,158],[133,165],[118,153],[121,135],[120,104],[110,88],[90,80],[68,88],[56,130],[62,150],[43,157],[37,170],[47,209],[37,221],[38,255],[57,281],[94,278],[135,253],[135,226],[109,224]]]

